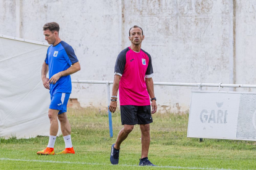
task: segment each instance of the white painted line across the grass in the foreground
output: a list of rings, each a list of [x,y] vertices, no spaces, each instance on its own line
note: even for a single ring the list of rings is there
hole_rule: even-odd
[[[24,162],[40,162],[40,163],[67,163],[67,164],[88,164],[88,165],[111,165],[105,163],[84,163],[84,162],[67,162],[67,161],[43,161],[43,160],[20,160],[10,158],[0,158],[2,161],[24,161]],[[117,166],[138,166],[134,164],[119,164]],[[138,166],[139,167],[139,166]],[[172,168],[172,169],[206,169],[206,170],[237,170],[237,169],[218,169],[218,168],[199,168],[199,167],[182,167],[182,166],[155,166],[155,168]],[[248,169],[250,170],[250,169]],[[252,170],[252,169],[251,169]]]

